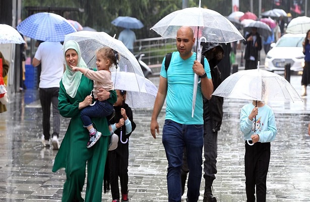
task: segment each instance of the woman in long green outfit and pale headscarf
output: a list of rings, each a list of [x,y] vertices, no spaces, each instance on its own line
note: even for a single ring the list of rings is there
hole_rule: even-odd
[[[58,109],[61,116],[71,118],[71,121],[55,157],[52,171],[56,172],[65,168],[67,180],[64,184],[62,201],[84,201],[81,192],[86,177],[87,164],[85,201],[101,201],[104,166],[110,135],[108,122],[105,117],[92,118],[94,128],[101,131],[102,137],[95,146],[87,148],[88,130],[83,127],[80,112],[92,102],[92,97],[89,94],[93,89],[93,81],[86,78],[81,72],[74,72],[70,67],[87,68],[81,58],[80,46],[76,41],[66,42],[64,53],[66,71],[60,81]],[[115,90],[108,92],[110,92],[107,93],[107,97],[110,97],[108,101],[114,104],[116,92]]]

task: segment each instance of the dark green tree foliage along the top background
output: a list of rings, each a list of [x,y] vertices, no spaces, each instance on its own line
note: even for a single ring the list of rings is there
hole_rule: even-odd
[[[131,16],[142,21],[144,27],[135,30],[137,38],[158,37],[150,28],[169,13],[182,9],[183,0],[23,0],[25,7],[80,8],[83,12],[71,12],[67,19],[76,20],[82,26],[95,28],[110,35],[117,35],[122,28],[115,27],[111,21],[118,16]],[[272,0],[262,0],[262,10],[272,8]],[[250,10],[250,0],[240,0],[239,10]],[[259,1],[253,0],[254,13],[258,15]],[[188,7],[198,7],[199,0],[188,0]],[[231,0],[202,0],[201,7],[219,12],[223,16],[231,13]],[[23,19],[27,16],[23,10]],[[65,16],[64,16],[65,17]]]

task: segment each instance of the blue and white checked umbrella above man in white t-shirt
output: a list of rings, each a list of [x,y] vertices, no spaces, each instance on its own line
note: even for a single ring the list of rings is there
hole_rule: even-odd
[[[65,35],[77,30],[65,18],[54,13],[36,13],[23,20],[17,30],[41,41],[64,41]]]

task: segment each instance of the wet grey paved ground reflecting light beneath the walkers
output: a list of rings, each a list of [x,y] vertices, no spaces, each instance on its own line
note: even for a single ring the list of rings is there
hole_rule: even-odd
[[[150,80],[159,83],[158,77]],[[301,76],[291,76],[291,84],[298,93],[300,81]],[[310,97],[309,87],[307,90]],[[275,112],[278,134],[271,144],[267,201],[310,201],[308,97],[298,103],[268,103]],[[42,148],[38,91],[27,89],[12,95],[10,100],[8,112],[0,114],[0,201],[61,201],[66,175],[64,170],[51,172],[57,151]],[[246,201],[244,142],[239,131],[239,113],[246,103],[241,99],[224,99],[223,124],[218,134],[218,173],[213,183],[218,201]],[[130,138],[129,157],[132,202],[167,201],[167,160],[161,134],[157,139],[150,134],[151,114],[152,109],[134,110],[137,128]],[[162,132],[164,111],[158,121]],[[69,119],[62,118],[60,141],[68,124]],[[203,185],[204,179],[199,201],[203,199]],[[102,194],[102,201],[111,201],[111,195]]]

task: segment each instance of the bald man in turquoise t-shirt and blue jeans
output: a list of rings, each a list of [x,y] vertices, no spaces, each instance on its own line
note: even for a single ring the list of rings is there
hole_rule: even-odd
[[[192,52],[195,43],[192,28],[182,26],[176,34],[177,52],[173,52],[167,71],[165,58],[160,71],[159,88],[151,119],[151,134],[159,134],[157,117],[166,99],[166,117],[163,126],[162,143],[168,160],[168,200],[181,201],[180,169],[183,149],[187,152],[190,170],[188,180],[188,201],[198,201],[202,177],[203,149],[203,98],[211,98],[213,84],[208,61],[204,67]],[[194,74],[199,75],[196,107],[192,117]]]

